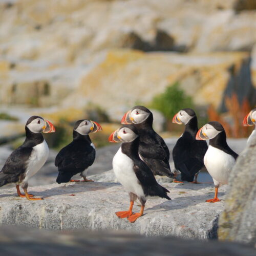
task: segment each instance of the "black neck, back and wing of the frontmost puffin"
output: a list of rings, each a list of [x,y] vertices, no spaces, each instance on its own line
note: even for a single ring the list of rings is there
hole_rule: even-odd
[[[145,196],[159,196],[161,198],[170,198],[167,196],[169,192],[166,188],[159,185],[150,168],[140,159],[139,150],[139,137],[132,142],[124,142],[121,145],[122,153],[130,157],[134,162],[134,172],[137,179],[142,186]]]

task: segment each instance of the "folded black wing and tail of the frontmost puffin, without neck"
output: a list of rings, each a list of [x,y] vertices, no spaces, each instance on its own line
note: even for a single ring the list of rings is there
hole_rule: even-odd
[[[167,196],[166,188],[159,185],[155,179],[155,176],[151,172],[151,169],[141,160],[135,161],[134,172],[138,178],[145,196],[159,196],[161,198],[170,198]]]

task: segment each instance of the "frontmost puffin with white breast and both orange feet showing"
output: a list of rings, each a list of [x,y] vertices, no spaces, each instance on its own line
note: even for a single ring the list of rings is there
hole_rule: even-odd
[[[130,208],[127,211],[117,211],[118,218],[127,218],[134,223],[143,215],[146,200],[150,197],[161,197],[171,200],[166,188],[159,185],[151,169],[139,156],[139,132],[135,125],[121,126],[109,137],[110,142],[122,142],[113,158],[113,170],[117,180],[129,191]],[[141,203],[140,212],[133,214],[133,204],[136,199]]]

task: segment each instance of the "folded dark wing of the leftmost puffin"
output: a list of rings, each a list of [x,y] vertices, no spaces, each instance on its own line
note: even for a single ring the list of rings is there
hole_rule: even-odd
[[[20,146],[12,152],[0,172],[1,185],[19,181],[20,175],[26,172],[32,150],[31,147]]]

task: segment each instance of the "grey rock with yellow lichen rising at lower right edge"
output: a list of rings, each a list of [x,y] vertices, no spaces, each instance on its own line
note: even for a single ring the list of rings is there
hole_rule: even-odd
[[[219,238],[256,247],[256,136],[239,156],[229,184]]]

